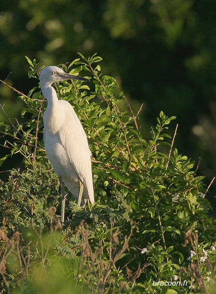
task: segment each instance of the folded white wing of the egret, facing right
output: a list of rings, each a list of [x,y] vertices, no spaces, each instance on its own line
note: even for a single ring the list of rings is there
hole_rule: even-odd
[[[80,180],[84,187],[87,188],[90,201],[94,203],[91,151],[87,136],[70,103],[65,100],[59,100],[59,104],[63,107],[65,115],[65,121],[59,130],[59,139]]]

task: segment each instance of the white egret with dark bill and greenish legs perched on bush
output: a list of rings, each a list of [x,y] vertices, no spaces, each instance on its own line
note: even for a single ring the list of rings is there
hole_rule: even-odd
[[[91,151],[84,129],[73,107],[58,100],[54,82],[64,80],[88,81],[65,73],[57,66],[45,67],[39,76],[41,90],[48,101],[44,112],[44,143],[48,158],[59,177],[61,188],[61,221],[64,222],[65,193],[63,183],[84,206],[87,199],[94,203]]]

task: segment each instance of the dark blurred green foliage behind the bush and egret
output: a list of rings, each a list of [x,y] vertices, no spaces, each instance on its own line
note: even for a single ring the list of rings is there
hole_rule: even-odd
[[[1,0],[0,79],[11,72],[6,82],[27,94],[36,85],[25,55],[55,65],[97,52],[134,112],[144,103],[146,139],[161,110],[177,116],[175,147],[202,158],[208,183],[216,174],[215,11],[215,0]],[[21,121],[22,102],[4,85],[0,103]],[[17,162],[8,158],[1,170]]]

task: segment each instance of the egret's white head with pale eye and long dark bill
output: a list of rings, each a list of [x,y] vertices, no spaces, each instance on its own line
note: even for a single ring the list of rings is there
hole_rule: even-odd
[[[89,81],[85,78],[65,73],[61,68],[57,66],[47,66],[43,68],[40,73],[39,80],[45,85],[51,85],[54,82],[60,82],[64,80]]]

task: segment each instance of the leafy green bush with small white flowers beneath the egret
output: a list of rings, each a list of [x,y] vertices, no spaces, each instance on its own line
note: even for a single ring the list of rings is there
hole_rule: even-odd
[[[29,77],[37,78],[40,64],[27,59]],[[115,79],[100,73],[100,60],[81,55],[63,65],[92,85],[54,85],[88,136],[96,198],[80,208],[68,196],[63,227],[40,88],[19,96],[25,123],[2,125],[10,152],[0,162],[19,153],[25,170],[11,170],[0,185],[0,293],[214,293],[216,222],[203,177],[174,148],[176,132],[168,134],[175,117],[161,112],[151,140],[142,139],[139,116],[120,110],[128,102]]]

